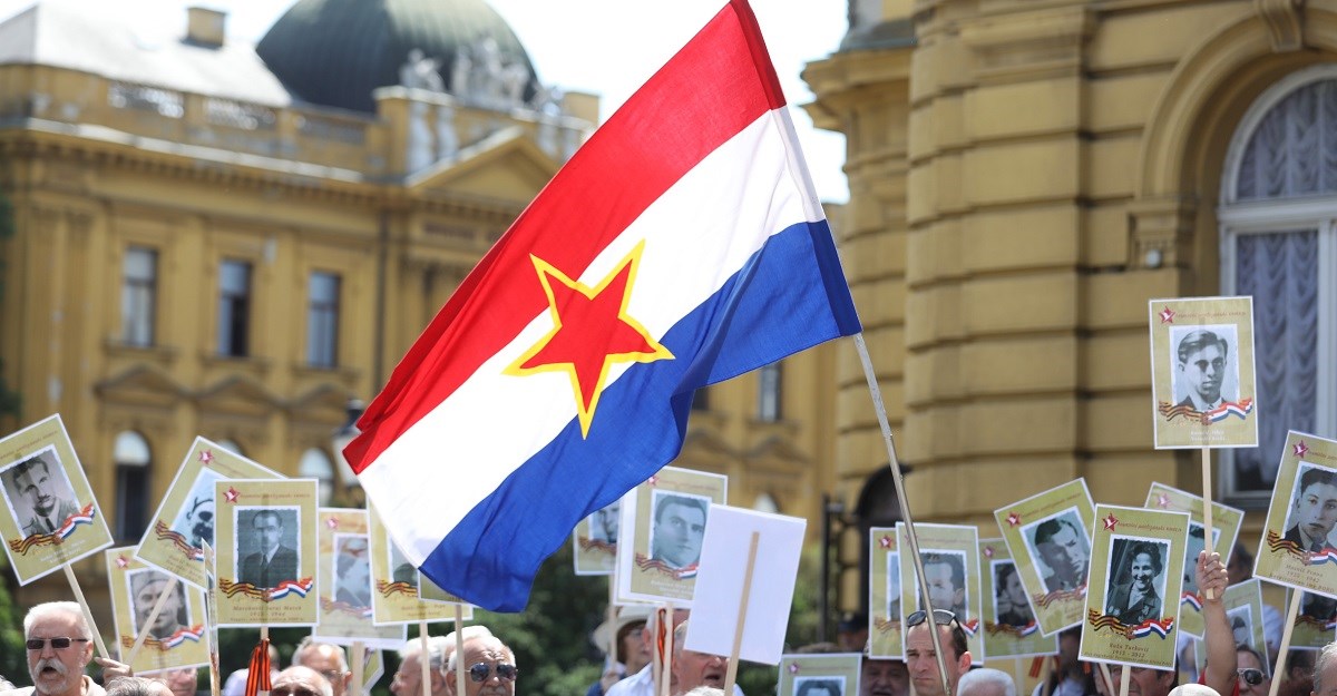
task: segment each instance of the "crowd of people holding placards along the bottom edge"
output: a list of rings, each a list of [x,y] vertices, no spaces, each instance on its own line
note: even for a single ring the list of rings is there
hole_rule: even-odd
[[[1132,558],[1140,562],[1136,554]],[[1227,568],[1219,554],[1202,552],[1194,578],[1205,590],[1202,615],[1206,664],[1197,669],[1197,684],[1179,685],[1181,669],[1123,669],[1110,665],[1106,672],[1099,665],[1084,663],[1078,657],[1080,629],[1071,628],[1059,635],[1055,668],[1035,688],[1032,696],[1114,696],[1119,693],[1123,679],[1128,679],[1128,693],[1132,696],[1170,696],[1173,691],[1175,696],[1266,696],[1271,679],[1282,680],[1278,685],[1282,696],[1333,696],[1324,691],[1324,684],[1329,691],[1337,688],[1337,643],[1317,653],[1294,651],[1293,659],[1282,669],[1269,669],[1267,665],[1277,659],[1273,648],[1269,645],[1255,649],[1237,643],[1226,616],[1222,601],[1226,586],[1246,580],[1235,564]],[[670,696],[725,696],[729,660],[686,649],[690,623],[686,611],[674,612],[671,621],[673,659],[667,671]],[[1017,696],[1017,684],[1011,675],[972,665],[965,631],[955,612],[933,609],[932,623],[939,632],[944,657],[941,665],[928,615],[923,611],[906,617],[904,660],[870,657],[865,648],[866,623],[858,625],[857,621],[841,625],[842,644],[817,644],[801,648],[800,652],[862,649],[858,696],[910,696],[912,685],[916,696]],[[193,696],[198,691],[198,672],[194,668],[146,679],[135,676],[128,665],[115,660],[95,659],[92,635],[75,602],[57,601],[33,606],[24,619],[23,629],[32,685],[15,688],[0,677],[0,696]],[[651,647],[656,641],[651,636],[648,609],[622,608],[599,627],[592,640],[602,649],[612,652],[607,671],[590,685],[587,696],[658,693],[651,665]],[[277,664],[277,655],[271,653],[271,660]],[[102,667],[102,685],[84,673],[94,661]],[[452,633],[431,636],[425,641],[406,641],[400,649],[400,667],[390,683],[390,692],[394,696],[418,696],[424,691],[431,696],[459,696],[456,671],[461,664],[465,675],[464,696],[515,696],[520,679],[515,652],[483,625],[465,627],[459,639]],[[424,676],[429,680],[427,688]],[[271,675],[270,696],[345,696],[352,679],[342,647],[306,639],[293,652],[291,667]],[[223,687],[223,695],[241,696],[245,683],[245,672],[233,675]],[[820,683],[805,687],[808,693],[801,696],[845,696],[838,689],[833,693],[830,687]],[[743,696],[737,685],[733,696]]]

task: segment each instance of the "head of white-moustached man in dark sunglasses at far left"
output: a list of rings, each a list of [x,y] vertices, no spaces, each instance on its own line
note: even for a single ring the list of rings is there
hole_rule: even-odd
[[[92,633],[72,601],[49,601],[23,617],[28,676],[39,696],[79,696],[83,669],[92,660]]]

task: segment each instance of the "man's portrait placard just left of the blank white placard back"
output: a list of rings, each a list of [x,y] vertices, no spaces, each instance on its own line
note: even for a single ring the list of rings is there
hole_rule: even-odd
[[[691,606],[711,505],[727,504],[729,477],[664,466],[622,497],[619,602]]]

